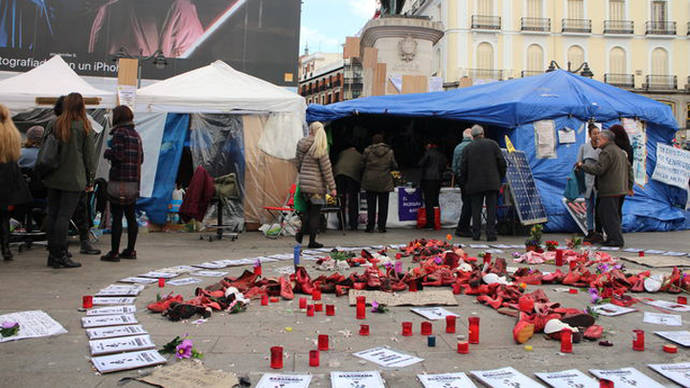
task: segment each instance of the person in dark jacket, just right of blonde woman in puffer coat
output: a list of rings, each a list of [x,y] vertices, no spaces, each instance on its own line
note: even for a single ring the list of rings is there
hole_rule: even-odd
[[[350,230],[357,230],[359,218],[359,183],[362,180],[362,154],[351,144],[338,155],[335,164],[335,185],[340,206],[347,208]],[[345,220],[343,220],[345,222]]]

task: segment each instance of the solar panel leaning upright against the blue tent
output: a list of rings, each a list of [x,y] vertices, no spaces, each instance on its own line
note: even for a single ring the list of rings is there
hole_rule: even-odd
[[[522,151],[503,151],[506,160],[506,181],[510,186],[515,210],[523,225],[541,224],[548,221],[541,202],[539,189],[534,182],[532,169]]]

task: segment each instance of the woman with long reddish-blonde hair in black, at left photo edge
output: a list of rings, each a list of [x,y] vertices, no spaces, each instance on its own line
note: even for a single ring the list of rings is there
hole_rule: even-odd
[[[12,122],[10,110],[0,105],[0,246],[4,260],[12,260],[10,251],[10,211],[16,205],[31,202],[29,188],[17,161],[22,137]]]

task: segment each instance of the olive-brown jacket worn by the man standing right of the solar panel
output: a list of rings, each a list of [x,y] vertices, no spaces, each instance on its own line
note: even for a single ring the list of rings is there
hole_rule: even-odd
[[[596,175],[598,195],[615,197],[627,195],[633,187],[633,172],[625,151],[615,143],[609,142],[599,153],[596,164],[583,164],[582,170]]]

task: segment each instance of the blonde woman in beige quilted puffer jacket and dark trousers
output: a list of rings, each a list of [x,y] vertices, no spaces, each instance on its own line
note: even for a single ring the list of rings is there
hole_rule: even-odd
[[[326,194],[336,196],[335,180],[331,160],[328,157],[328,138],[323,124],[318,121],[309,126],[309,136],[297,143],[297,170],[301,195],[307,204],[302,214],[302,228],[295,235],[302,243],[305,234],[309,235],[309,248],[321,248],[316,242],[316,233],[321,219],[321,208],[326,204]]]

